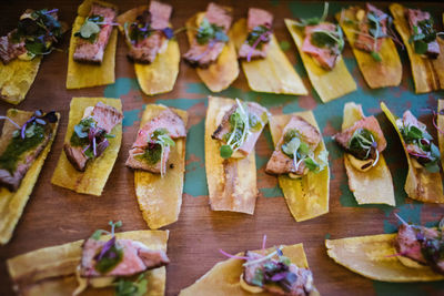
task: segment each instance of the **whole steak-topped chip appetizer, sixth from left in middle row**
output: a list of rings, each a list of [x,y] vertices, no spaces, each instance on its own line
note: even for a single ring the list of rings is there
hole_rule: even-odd
[[[382,152],[387,142],[375,116],[364,116],[362,105],[344,105],[342,132],[333,139],[344,150],[349,187],[359,204],[395,205],[392,174]]]

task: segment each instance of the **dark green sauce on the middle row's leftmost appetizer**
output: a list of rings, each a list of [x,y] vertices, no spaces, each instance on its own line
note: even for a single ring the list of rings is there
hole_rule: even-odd
[[[32,127],[33,126],[33,127]],[[8,144],[3,154],[0,155],[0,167],[3,170],[8,170],[11,174],[17,169],[18,162],[21,160],[21,156],[37,147],[44,139],[44,126],[32,123],[27,126],[27,131],[32,131],[32,135],[26,136],[21,139],[20,134],[18,136],[12,137],[11,142]],[[29,135],[29,134],[28,134]]]

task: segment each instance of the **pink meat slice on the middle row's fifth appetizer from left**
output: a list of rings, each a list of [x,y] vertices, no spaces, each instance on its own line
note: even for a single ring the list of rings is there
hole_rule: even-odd
[[[266,163],[265,172],[269,174],[289,174],[293,173],[296,175],[303,175],[305,171],[305,164],[302,162],[297,170],[294,167],[293,159],[289,157],[286,154],[282,152],[282,144],[284,143],[285,133],[290,130],[296,130],[301,135],[301,140],[305,142],[310,150],[314,151],[319,143],[321,142],[322,137],[320,132],[306,122],[301,116],[292,116],[289,123],[282,131],[281,139],[279,140],[273,154],[270,157],[270,161]]]

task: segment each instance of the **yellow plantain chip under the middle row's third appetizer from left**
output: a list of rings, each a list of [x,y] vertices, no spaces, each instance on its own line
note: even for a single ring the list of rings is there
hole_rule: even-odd
[[[147,105],[140,127],[158,116],[167,106]],[[186,111],[172,109],[186,125]],[[167,174],[153,174],[142,170],[134,171],[135,195],[140,211],[148,226],[152,229],[174,223],[179,218],[182,205],[183,175],[185,172],[186,139],[176,139],[175,146],[171,147],[167,166]],[[173,164],[173,169],[170,165]]]

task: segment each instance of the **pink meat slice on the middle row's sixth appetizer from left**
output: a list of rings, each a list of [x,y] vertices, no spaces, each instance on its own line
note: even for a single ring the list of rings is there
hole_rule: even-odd
[[[377,143],[377,151],[383,152],[387,146],[387,142],[385,141],[384,134],[381,130],[380,123],[377,122],[375,116],[363,118],[360,121],[356,121],[352,126],[337,133],[333,136],[333,139],[345,150],[349,149],[350,140],[353,136],[353,133],[359,129],[365,129],[372,132],[372,135],[375,137]]]

